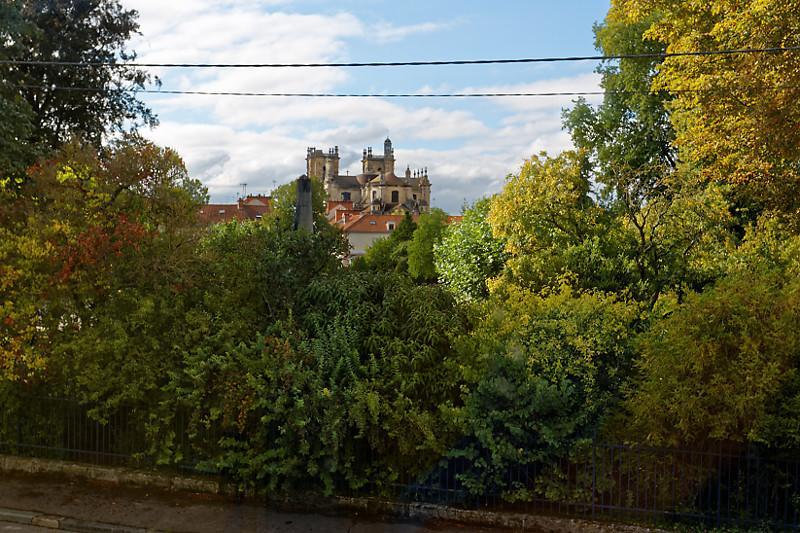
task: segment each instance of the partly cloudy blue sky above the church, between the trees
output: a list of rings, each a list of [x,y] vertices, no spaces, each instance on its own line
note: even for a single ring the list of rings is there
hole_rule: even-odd
[[[593,55],[607,0],[123,0],[130,48],[149,63],[309,63]],[[165,90],[424,93],[599,89],[592,62],[320,69],[151,69]],[[595,98],[595,100],[593,100]],[[597,97],[589,97],[596,102]],[[570,147],[569,97],[354,99],[142,95],[212,201],[269,192],[305,172],[307,147],[339,146],[340,173],[392,139],[398,173],[427,167],[450,213],[499,191],[541,151]]]

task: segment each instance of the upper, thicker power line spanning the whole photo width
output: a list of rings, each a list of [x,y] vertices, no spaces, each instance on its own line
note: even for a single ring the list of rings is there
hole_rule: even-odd
[[[136,63],[116,61],[47,61],[25,59],[0,59],[0,65],[35,65],[54,67],[109,67],[109,68],[326,68],[326,67],[421,67],[443,65],[498,65],[518,63],[562,63],[570,61],[614,61],[621,59],[666,59],[670,57],[726,56],[739,54],[779,54],[798,52],[800,46],[772,48],[738,48],[727,50],[698,50],[689,52],[663,52],[647,54],[617,54],[563,57],[533,57],[516,59],[457,59],[443,61],[374,61],[350,63]]]

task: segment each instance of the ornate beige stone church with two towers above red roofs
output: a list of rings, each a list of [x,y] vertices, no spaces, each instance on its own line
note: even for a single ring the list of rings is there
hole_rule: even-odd
[[[430,211],[431,183],[428,169],[412,171],[406,167],[403,176],[395,174],[392,141],[383,143],[383,154],[365,148],[361,158],[361,174],[339,174],[339,147],[327,152],[309,148],[306,170],[310,177],[322,180],[329,201],[352,202],[352,209],[370,213],[427,213]]]

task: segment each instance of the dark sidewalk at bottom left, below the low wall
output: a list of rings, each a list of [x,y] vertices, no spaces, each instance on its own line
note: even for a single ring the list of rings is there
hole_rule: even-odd
[[[284,513],[253,504],[240,504],[221,496],[176,493],[152,489],[119,487],[98,481],[75,481],[54,476],[2,473],[0,508],[29,511],[70,520],[54,522],[63,530],[89,531],[92,524],[110,532],[108,525],[120,530],[156,530],[178,533],[268,532],[268,533],[464,533],[491,532],[500,529],[479,528],[453,523],[398,523],[379,517],[323,516]],[[33,532],[34,522],[22,526],[4,522],[0,531]],[[31,522],[28,522],[31,524]],[[528,531],[534,531],[528,529]]]

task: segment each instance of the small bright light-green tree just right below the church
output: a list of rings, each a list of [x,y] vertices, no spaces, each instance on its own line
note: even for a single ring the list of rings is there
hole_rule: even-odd
[[[487,281],[502,271],[505,243],[492,234],[487,219],[491,199],[464,209],[461,222],[450,224],[434,246],[439,282],[459,300],[480,300],[489,294]]]

